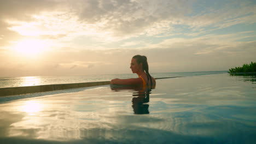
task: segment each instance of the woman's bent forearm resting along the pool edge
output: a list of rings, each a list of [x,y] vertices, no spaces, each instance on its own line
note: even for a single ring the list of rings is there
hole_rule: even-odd
[[[110,84],[115,85],[141,85],[143,81],[140,78],[136,79],[113,79]]]

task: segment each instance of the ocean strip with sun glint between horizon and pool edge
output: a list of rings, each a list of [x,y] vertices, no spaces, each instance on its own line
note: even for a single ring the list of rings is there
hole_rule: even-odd
[[[177,73],[152,73],[155,78],[173,76],[199,76],[211,74],[225,74],[227,71],[193,71]],[[110,74],[110,75],[79,75],[79,76],[22,76],[22,77],[0,77],[0,88],[53,85],[63,83],[80,83],[109,81],[115,78],[129,79],[136,78],[137,74]]]

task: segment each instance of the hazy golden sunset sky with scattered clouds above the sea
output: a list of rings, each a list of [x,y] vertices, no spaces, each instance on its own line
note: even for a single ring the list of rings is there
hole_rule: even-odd
[[[0,0],[0,77],[217,71],[256,62],[256,1]]]

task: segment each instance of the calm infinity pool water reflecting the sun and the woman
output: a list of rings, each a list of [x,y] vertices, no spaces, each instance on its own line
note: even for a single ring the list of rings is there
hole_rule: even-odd
[[[255,76],[92,87],[0,104],[0,143],[255,143]]]

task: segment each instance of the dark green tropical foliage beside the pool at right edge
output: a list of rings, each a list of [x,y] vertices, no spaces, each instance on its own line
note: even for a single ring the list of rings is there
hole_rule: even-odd
[[[231,68],[228,73],[256,73],[256,62],[243,64],[243,67]]]

